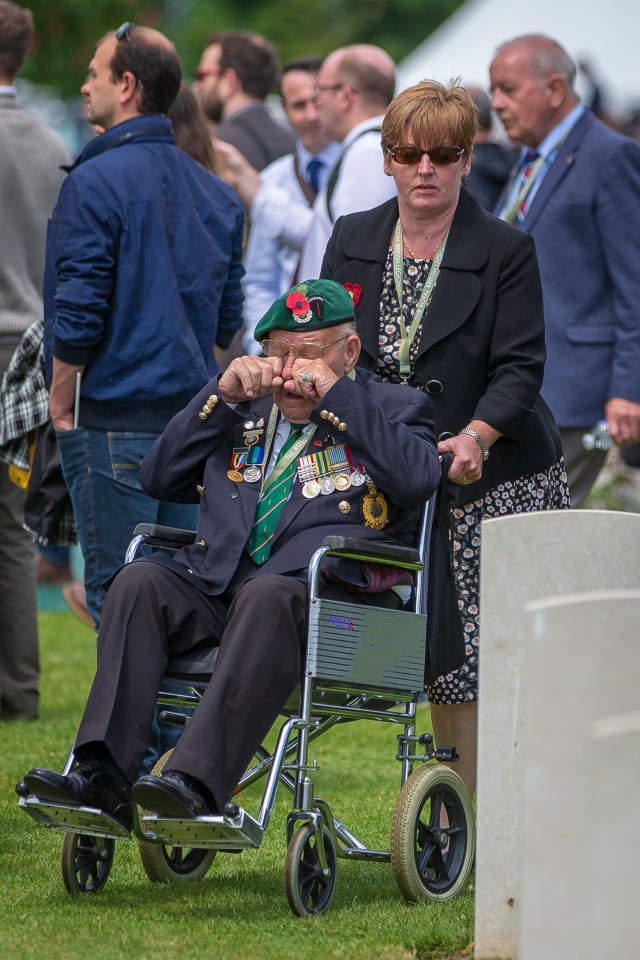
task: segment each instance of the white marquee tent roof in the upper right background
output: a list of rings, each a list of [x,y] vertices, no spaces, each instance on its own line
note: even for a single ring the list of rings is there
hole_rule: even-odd
[[[586,61],[614,112],[640,105],[640,0],[467,0],[402,61],[397,89],[458,76],[487,88],[496,48],[523,33],[545,33]]]

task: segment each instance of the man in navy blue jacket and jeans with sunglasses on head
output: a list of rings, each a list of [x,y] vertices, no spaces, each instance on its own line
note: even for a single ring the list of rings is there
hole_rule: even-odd
[[[96,626],[135,524],[196,522],[195,507],[147,496],[138,467],[242,323],[241,205],[175,145],[165,114],[180,81],[155,30],[127,23],[99,42],[82,94],[104,133],[71,168],[49,229],[51,420]]]

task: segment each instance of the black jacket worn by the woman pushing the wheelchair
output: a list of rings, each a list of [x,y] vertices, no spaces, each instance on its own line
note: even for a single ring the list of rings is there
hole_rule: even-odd
[[[397,217],[396,200],[341,217],[322,264],[322,277],[362,288],[356,307],[359,362],[370,370],[376,367],[382,275]],[[474,418],[504,434],[482,478],[458,491],[460,502],[562,456],[553,416],[539,393],[544,361],[533,241],[485,213],[463,189],[415,364],[418,384],[433,400],[438,439]]]

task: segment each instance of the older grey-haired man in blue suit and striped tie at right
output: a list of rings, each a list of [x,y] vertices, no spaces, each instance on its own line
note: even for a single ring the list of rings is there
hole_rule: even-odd
[[[547,362],[542,395],[564,447],[572,506],[606,457],[582,437],[640,439],[640,146],[580,103],[575,63],[550,37],[503,44],[493,109],[522,145],[496,213],[536,242]]]

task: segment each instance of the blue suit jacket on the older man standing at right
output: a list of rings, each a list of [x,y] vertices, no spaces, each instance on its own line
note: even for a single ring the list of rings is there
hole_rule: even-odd
[[[611,397],[640,403],[640,145],[590,110],[522,223],[536,242],[549,358],[542,393],[561,427]]]

